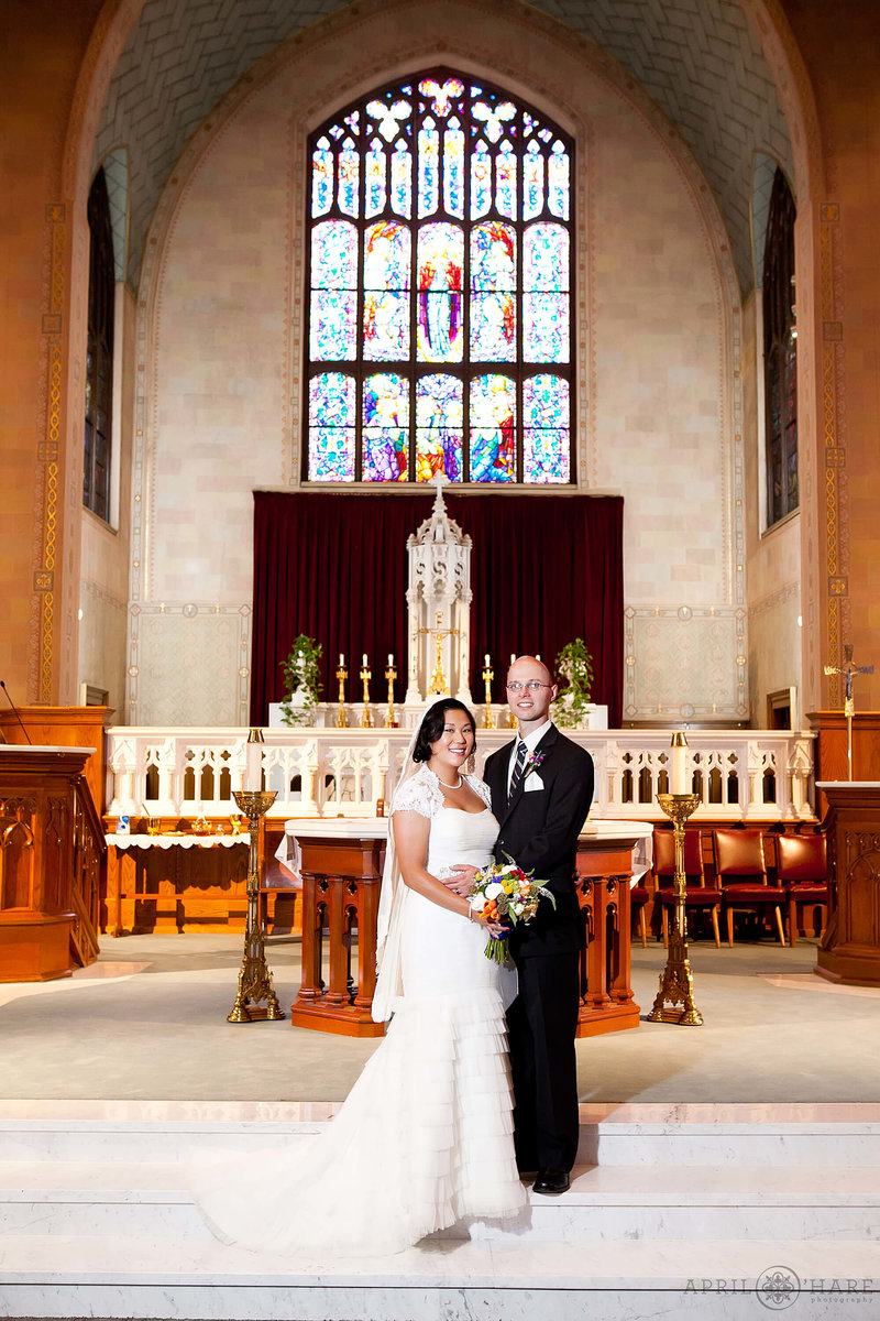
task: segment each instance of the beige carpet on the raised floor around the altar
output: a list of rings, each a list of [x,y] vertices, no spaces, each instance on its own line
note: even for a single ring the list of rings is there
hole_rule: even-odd
[[[103,939],[74,978],[0,985],[0,1096],[340,1100],[376,1048],[288,1021],[232,1025],[241,935]],[[282,1007],[299,945],[268,962]],[[643,1022],[578,1044],[583,1102],[880,1102],[880,991],[813,975],[815,943],[690,950],[701,1028],[644,1016],[665,964],[633,950]]]

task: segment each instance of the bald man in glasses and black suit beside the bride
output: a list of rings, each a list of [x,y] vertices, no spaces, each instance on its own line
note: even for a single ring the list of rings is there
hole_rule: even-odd
[[[536,657],[520,657],[507,676],[520,736],[486,762],[500,834],[495,856],[509,855],[555,898],[511,935],[519,993],[508,1009],[516,1160],[537,1170],[536,1193],[569,1188],[578,1152],[574,1040],[581,1003],[583,921],[574,888],[578,835],[592,802],[592,758],[550,720],[557,686]]]

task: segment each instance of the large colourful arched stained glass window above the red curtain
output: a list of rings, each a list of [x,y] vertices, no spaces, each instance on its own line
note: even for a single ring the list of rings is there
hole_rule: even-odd
[[[434,69],[309,153],[305,477],[570,482],[570,137]]]

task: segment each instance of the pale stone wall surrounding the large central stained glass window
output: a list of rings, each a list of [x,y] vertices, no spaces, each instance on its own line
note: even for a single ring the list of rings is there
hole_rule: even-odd
[[[377,11],[281,48],[195,135],[165,190],[136,363],[135,723],[181,719],[168,667],[145,666],[148,635],[150,657],[182,658],[185,723],[244,719],[247,657],[232,663],[243,634],[228,620],[251,605],[251,493],[299,481],[305,140],[360,91],[360,70],[379,85],[441,58],[577,140],[578,485],[625,498],[624,717],[748,716],[739,303],[708,190],[660,111],[590,42],[516,11],[470,9],[450,26],[454,8],[422,5],[405,38]],[[441,55],[450,30],[462,34]],[[697,663],[706,629],[711,675]],[[212,650],[224,697],[216,672],[206,682]]]

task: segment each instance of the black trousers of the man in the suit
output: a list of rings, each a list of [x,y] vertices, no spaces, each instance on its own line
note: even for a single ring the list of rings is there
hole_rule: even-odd
[[[507,1012],[516,1162],[521,1170],[570,1170],[579,1133],[579,954],[520,958],[516,968],[519,995]]]

